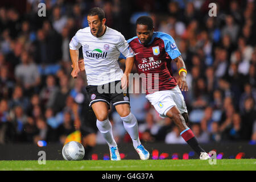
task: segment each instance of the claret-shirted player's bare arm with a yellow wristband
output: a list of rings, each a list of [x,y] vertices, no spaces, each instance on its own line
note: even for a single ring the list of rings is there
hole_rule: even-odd
[[[181,56],[178,56],[174,59],[177,70],[179,72],[180,77],[177,79],[177,84],[179,85],[181,91],[188,91],[188,84],[186,81],[187,69],[185,67],[185,63]]]

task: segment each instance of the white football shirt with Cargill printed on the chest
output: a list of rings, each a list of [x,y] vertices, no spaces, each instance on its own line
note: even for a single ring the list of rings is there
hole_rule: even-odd
[[[123,71],[119,67],[118,57],[133,57],[133,49],[124,36],[106,26],[106,32],[101,37],[93,36],[90,27],[80,29],[73,36],[69,48],[78,50],[82,46],[85,72],[88,85],[103,85],[121,80]]]

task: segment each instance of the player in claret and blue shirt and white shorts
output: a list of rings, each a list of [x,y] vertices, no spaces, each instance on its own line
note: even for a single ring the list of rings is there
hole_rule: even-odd
[[[188,91],[187,70],[174,39],[163,32],[154,32],[153,21],[149,16],[141,16],[137,19],[136,31],[137,36],[127,42],[135,53],[138,73],[146,75],[144,80],[142,78],[143,85],[146,85],[146,98],[158,111],[160,117],[169,117],[174,121],[179,127],[181,137],[200,156],[200,159],[209,159],[209,155],[200,147],[195,135],[186,124],[188,111],[181,90]],[[179,71],[180,76],[177,80],[172,75],[171,60],[175,61]],[[156,88],[153,88],[154,76],[159,79]]]

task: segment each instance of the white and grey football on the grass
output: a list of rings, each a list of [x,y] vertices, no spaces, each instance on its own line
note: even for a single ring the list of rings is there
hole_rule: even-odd
[[[68,142],[62,148],[62,155],[65,160],[82,160],[84,158],[84,147],[76,141]]]

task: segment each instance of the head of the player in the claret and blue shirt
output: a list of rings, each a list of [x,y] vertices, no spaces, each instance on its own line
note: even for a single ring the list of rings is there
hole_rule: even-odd
[[[147,45],[154,32],[153,20],[149,16],[141,16],[136,21],[136,34],[143,45]]]

